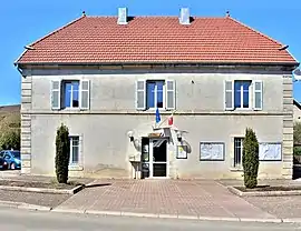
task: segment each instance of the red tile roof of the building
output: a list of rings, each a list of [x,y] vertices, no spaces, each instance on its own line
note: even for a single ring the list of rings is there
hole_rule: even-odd
[[[291,63],[280,42],[230,18],[81,17],[31,44],[17,63]]]

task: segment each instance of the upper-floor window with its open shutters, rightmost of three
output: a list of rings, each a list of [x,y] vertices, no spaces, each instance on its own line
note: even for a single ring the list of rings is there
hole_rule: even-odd
[[[263,108],[262,81],[226,80],[224,89],[225,110]]]

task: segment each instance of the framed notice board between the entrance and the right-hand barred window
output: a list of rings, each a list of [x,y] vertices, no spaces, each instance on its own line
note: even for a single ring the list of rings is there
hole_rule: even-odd
[[[223,142],[201,142],[200,143],[200,160],[201,161],[223,161],[224,160]]]

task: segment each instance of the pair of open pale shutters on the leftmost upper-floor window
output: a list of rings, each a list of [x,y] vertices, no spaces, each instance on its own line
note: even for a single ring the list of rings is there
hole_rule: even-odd
[[[80,94],[79,94],[79,108],[82,110],[88,110],[90,108],[90,82],[89,80],[81,80],[79,83]],[[60,110],[61,100],[61,81],[51,81],[51,109]]]

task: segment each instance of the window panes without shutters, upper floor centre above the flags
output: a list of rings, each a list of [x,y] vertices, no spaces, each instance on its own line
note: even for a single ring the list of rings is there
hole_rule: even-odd
[[[146,82],[146,108],[154,109],[164,107],[164,81],[147,81]]]

